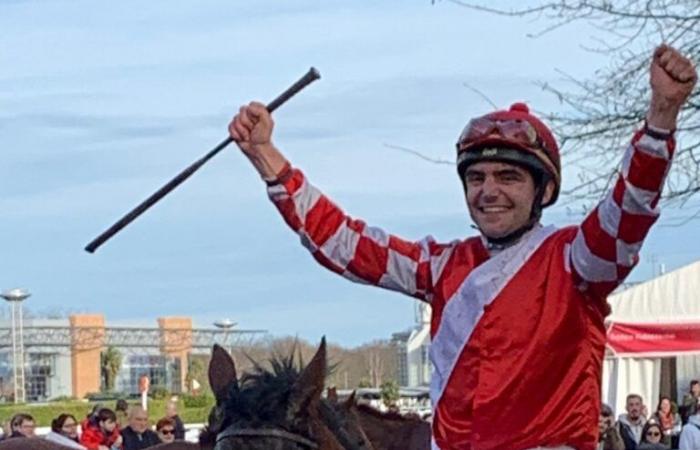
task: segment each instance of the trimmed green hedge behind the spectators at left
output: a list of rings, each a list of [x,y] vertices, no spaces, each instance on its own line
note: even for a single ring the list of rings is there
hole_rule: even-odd
[[[206,422],[209,416],[209,410],[214,404],[214,400],[211,397],[205,397],[206,403],[202,404],[197,402],[197,406],[186,407],[182,400],[179,401],[178,411],[180,417],[185,423],[202,423]],[[113,401],[103,402],[102,404],[108,408],[114,408]],[[148,402],[148,412],[151,422],[155,424],[158,419],[165,415],[165,403],[166,400],[150,400]],[[85,416],[92,411],[92,408],[96,403],[88,403],[85,401],[73,401],[73,402],[51,402],[46,404],[34,405],[0,405],[0,423],[5,423],[10,420],[10,418],[19,413],[29,413],[31,414],[37,422],[37,426],[48,427],[51,426],[51,421],[62,413],[73,414],[79,421],[85,418]],[[129,401],[129,405],[139,404],[137,400]]]

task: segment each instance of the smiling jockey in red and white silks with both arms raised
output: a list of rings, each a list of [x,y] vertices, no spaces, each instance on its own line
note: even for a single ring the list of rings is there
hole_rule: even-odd
[[[347,216],[272,144],[264,105],[241,107],[229,125],[318,262],[431,305],[433,448],[596,448],[606,297],[658,217],[676,119],[697,75],[662,45],[650,78],[644,126],[614,188],[579,226],[540,224],[560,190],[559,150],[525,105],[470,121],[457,165],[480,236],[450,243],[407,241]]]

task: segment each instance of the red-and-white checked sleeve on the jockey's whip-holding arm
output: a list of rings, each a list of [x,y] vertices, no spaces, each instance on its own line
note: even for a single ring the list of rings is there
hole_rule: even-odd
[[[355,282],[431,300],[431,255],[442,260],[445,253],[432,238],[406,241],[345,215],[298,169],[268,186],[268,195],[326,268]]]

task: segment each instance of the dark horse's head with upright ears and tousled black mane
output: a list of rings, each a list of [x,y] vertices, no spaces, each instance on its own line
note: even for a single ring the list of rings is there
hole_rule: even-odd
[[[304,369],[294,356],[273,358],[271,369],[256,364],[239,380],[231,356],[215,345],[209,384],[216,406],[200,435],[201,449],[374,450],[352,416],[321,399],[325,338]]]

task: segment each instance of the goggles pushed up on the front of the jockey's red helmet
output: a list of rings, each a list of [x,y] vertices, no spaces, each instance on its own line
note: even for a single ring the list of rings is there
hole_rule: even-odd
[[[541,149],[548,153],[547,147],[537,134],[537,130],[526,120],[493,120],[479,117],[469,121],[459,136],[457,149],[489,136],[502,138],[532,149]]]

